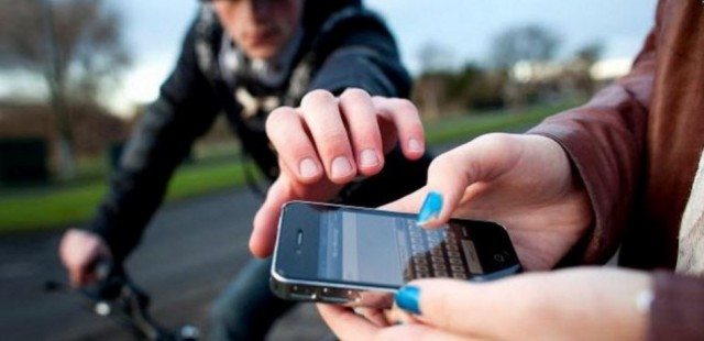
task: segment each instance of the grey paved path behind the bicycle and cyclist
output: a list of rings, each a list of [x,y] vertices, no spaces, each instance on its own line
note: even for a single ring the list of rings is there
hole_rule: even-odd
[[[246,241],[258,199],[245,190],[165,207],[128,262],[135,283],[152,295],[165,326],[191,322],[207,332],[216,295],[249,260]],[[78,297],[47,294],[43,283],[63,278],[56,258],[61,234],[0,239],[0,339],[129,340],[112,321],[86,311]],[[310,305],[280,320],[272,340],[321,339],[328,333]]]

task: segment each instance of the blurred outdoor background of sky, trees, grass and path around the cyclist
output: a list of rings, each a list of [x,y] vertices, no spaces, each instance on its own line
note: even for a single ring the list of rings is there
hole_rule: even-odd
[[[396,34],[428,144],[524,131],[626,74],[654,0],[366,0]],[[64,280],[63,230],[90,219],[130,130],[174,67],[195,0],[0,0],[0,336],[130,339],[81,305],[45,293]],[[168,204],[127,266],[164,324],[207,333],[211,300],[249,260],[261,199],[224,120],[173,179]],[[301,306],[274,340],[326,329]]]

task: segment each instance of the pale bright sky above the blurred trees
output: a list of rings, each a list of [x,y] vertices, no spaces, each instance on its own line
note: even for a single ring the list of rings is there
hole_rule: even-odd
[[[457,64],[488,62],[491,42],[509,26],[539,23],[562,38],[561,56],[594,41],[605,58],[632,58],[652,25],[656,0],[365,0],[396,34],[404,63],[418,72],[418,52],[432,42]],[[112,105],[129,112],[150,102],[174,67],[196,0],[114,1],[133,65]],[[7,87],[7,82],[6,82]],[[3,85],[0,81],[0,94]]]

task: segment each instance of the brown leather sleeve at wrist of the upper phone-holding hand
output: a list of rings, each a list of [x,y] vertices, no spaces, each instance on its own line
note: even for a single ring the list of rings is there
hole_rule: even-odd
[[[586,105],[548,118],[528,132],[560,143],[588,193],[595,223],[571,252],[576,263],[608,261],[626,227],[641,173],[654,78],[654,32],[628,75]]]

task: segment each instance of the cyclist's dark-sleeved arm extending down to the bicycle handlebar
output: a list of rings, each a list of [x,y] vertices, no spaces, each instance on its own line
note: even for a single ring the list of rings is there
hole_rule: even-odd
[[[89,226],[118,260],[138,243],[164,198],[174,169],[218,113],[211,87],[197,65],[194,28],[160,98],[148,107],[130,138],[110,193]]]

